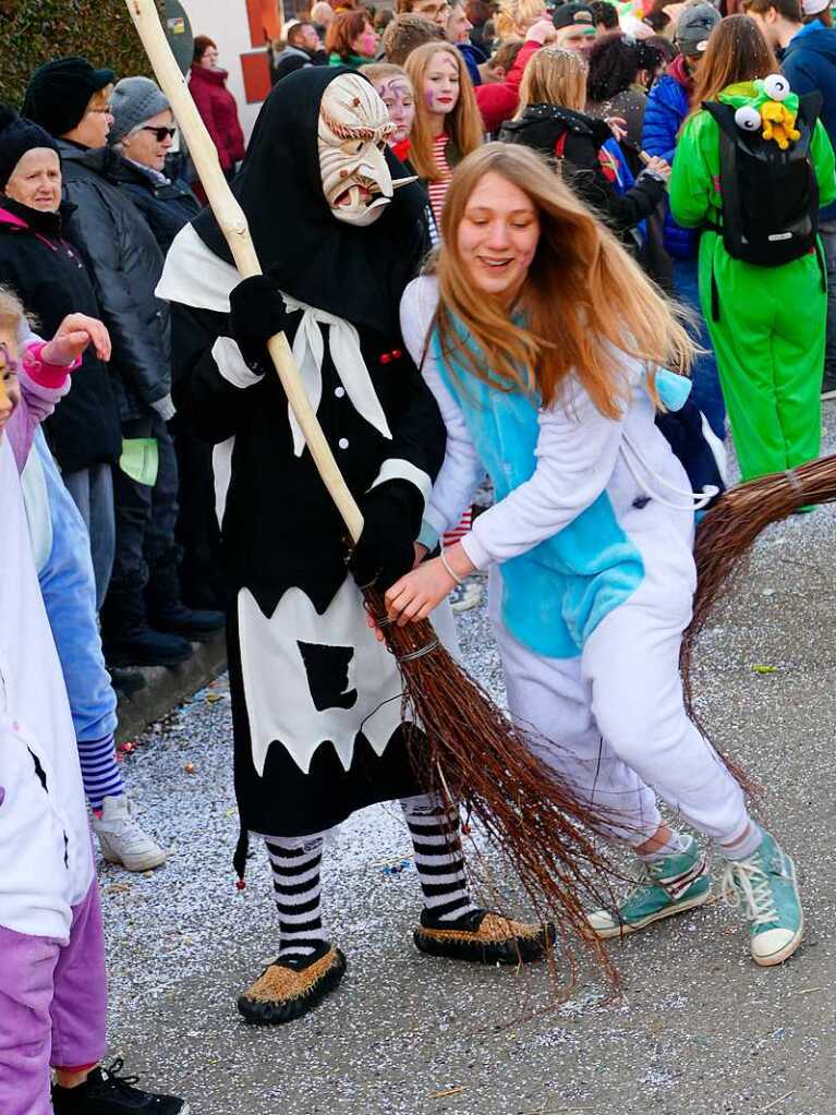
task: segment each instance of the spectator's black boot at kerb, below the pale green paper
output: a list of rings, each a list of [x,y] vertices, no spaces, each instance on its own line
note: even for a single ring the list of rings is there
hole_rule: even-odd
[[[101,641],[108,666],[177,666],[192,657],[185,639],[148,626],[140,588],[110,585],[101,609]]]

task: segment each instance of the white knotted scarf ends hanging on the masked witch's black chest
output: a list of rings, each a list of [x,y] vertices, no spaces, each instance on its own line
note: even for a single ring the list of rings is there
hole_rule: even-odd
[[[360,350],[360,337],[357,329],[343,318],[337,318],[332,313],[325,313],[324,310],[318,310],[305,302],[299,302],[290,294],[282,292],[282,298],[288,313],[301,312],[302,314],[297,336],[293,339],[293,359],[302,377],[305,395],[314,411],[319,409],[322,398],[322,358],[325,341],[321,327],[330,326],[331,359],[351,405],[378,433],[391,439],[389,424]],[[298,457],[301,457],[304,450],[304,437],[290,405],[288,406],[288,419],[293,434],[293,452]]]

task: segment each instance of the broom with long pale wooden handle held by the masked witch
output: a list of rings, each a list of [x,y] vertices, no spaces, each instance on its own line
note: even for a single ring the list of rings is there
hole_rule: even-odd
[[[261,274],[246,219],[221,172],[217,154],[197,114],[163,32],[154,0],[126,0],[145,50],[185,136],[215,219],[243,278]],[[305,395],[283,333],[272,337],[271,358],[308,448],[357,542],[362,515],[351,495]],[[533,748],[554,746],[516,727],[445,650],[428,622],[399,628],[386,621],[382,594],[364,590],[366,605],[381,620],[404,685],[410,755],[424,788],[453,805],[465,801],[507,857],[537,915],[557,914],[557,928],[586,944],[615,985],[618,977],[596,939],[591,938],[581,895],[595,905],[612,904],[599,883],[611,873],[587,826],[601,828],[606,811],[591,808]]]

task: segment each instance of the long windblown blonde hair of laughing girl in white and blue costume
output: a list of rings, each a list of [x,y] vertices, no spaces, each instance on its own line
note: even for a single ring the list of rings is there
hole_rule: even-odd
[[[539,242],[517,300],[525,324],[513,323],[502,301],[475,289],[458,250],[467,203],[492,173],[522,190],[539,219]],[[547,407],[574,374],[601,414],[618,418],[630,390],[624,353],[647,367],[657,405],[657,367],[689,369],[694,347],[675,307],[533,151],[490,143],[469,155],[453,176],[441,233],[441,350],[483,382],[525,392],[535,385]],[[461,341],[460,330],[478,352]],[[489,367],[479,353],[489,353]]]

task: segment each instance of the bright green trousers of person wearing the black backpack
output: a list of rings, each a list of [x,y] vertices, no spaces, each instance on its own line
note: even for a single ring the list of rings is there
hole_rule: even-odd
[[[732,260],[722,239],[704,232],[700,301],[743,479],[817,457],[827,292],[816,255],[777,268],[755,266]]]

